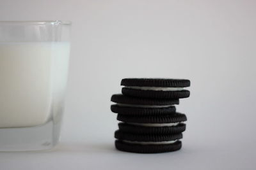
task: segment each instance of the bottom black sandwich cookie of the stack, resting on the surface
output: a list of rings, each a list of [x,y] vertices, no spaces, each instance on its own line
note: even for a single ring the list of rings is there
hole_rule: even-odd
[[[181,148],[182,134],[132,134],[116,131],[115,142],[118,150],[136,153],[171,152]]]

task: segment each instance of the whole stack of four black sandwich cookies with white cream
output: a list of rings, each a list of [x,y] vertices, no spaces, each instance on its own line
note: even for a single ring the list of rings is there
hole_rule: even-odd
[[[118,113],[115,132],[118,150],[134,153],[161,153],[179,150],[186,129],[186,115],[175,104],[189,97],[189,80],[125,78],[122,94],[114,94],[111,111]]]

